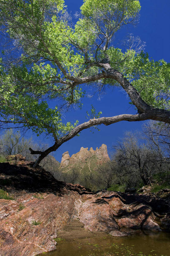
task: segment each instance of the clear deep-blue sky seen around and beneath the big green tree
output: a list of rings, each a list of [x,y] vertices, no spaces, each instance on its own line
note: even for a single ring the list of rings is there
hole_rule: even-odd
[[[102,0],[101,0],[102,1]],[[68,12],[72,15],[75,11],[79,11],[83,0],[65,0]],[[141,11],[139,23],[136,27],[124,27],[121,32],[116,36],[116,42],[126,39],[128,33],[133,33],[134,36],[139,36],[142,41],[146,42],[145,52],[149,56],[158,61],[164,59],[170,62],[170,2],[169,0],[140,0]],[[74,19],[73,19],[74,21]],[[136,110],[133,106],[129,105],[129,99],[121,88],[106,88],[102,97],[96,94],[92,98],[85,98],[83,100],[84,106],[82,110],[72,109],[66,113],[64,118],[66,121],[79,120],[79,123],[85,122],[86,111],[90,110],[91,104],[97,111],[102,111],[101,116],[114,116],[123,113],[135,114]],[[67,143],[63,144],[57,152],[53,155],[61,162],[62,153],[69,151],[70,156],[80,150],[80,147],[100,147],[102,143],[108,147],[108,152],[111,152],[113,144],[124,136],[125,131],[135,131],[142,127],[143,122],[119,122],[110,126],[101,125],[100,132],[90,129],[84,130],[80,133],[79,137],[72,138]],[[30,134],[28,135],[30,136]],[[35,141],[41,139],[44,143],[49,143],[51,146],[52,141],[42,136],[32,136]]]

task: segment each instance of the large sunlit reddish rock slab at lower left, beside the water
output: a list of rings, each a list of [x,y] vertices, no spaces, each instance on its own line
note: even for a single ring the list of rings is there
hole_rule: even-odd
[[[16,201],[2,199],[2,211],[13,207],[13,212],[1,219],[0,255],[36,255],[54,250],[56,242],[53,238],[70,220],[77,196],[75,192],[69,197],[53,193],[26,193]],[[25,208],[19,210],[21,203]],[[35,221],[39,224],[34,225]]]

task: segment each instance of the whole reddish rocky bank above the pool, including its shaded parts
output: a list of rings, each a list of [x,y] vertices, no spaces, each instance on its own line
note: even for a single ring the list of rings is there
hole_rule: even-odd
[[[0,199],[1,256],[33,256],[55,249],[54,238],[73,219],[86,230],[113,236],[143,229],[170,231],[170,191],[165,198],[150,193],[96,194],[79,184],[57,181],[24,159],[0,163],[0,188],[12,197]]]

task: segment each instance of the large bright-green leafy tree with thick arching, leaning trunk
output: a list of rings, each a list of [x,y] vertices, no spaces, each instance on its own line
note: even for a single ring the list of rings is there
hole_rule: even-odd
[[[30,148],[40,155],[34,167],[92,126],[148,119],[170,123],[169,64],[150,60],[133,37],[124,52],[112,46],[114,34],[135,23],[139,11],[138,0],[85,0],[73,24],[64,0],[1,0],[0,25],[13,43],[11,52],[7,46],[2,52],[1,127],[32,128],[54,140],[44,151]],[[62,110],[81,107],[84,84],[87,90],[121,86],[138,114],[65,123]]]

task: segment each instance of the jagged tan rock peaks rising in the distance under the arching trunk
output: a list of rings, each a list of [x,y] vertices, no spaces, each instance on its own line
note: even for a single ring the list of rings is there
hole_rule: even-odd
[[[85,163],[90,158],[95,158],[97,160],[97,163],[105,163],[110,160],[108,153],[107,153],[107,146],[105,144],[102,144],[100,148],[96,148],[96,150],[93,150],[93,148],[80,148],[80,151],[76,154],[73,154],[71,157],[69,155],[69,152],[66,151],[62,155],[60,168],[67,168],[73,166],[75,163]],[[81,165],[81,164],[80,164]]]

